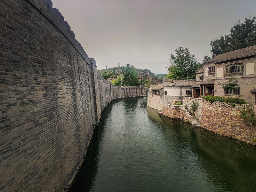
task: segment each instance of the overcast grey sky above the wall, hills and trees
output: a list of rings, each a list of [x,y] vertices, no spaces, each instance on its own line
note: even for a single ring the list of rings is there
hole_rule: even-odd
[[[238,20],[256,15],[255,0],[52,0],[98,69],[121,62],[152,73],[178,47],[202,62],[209,45]]]

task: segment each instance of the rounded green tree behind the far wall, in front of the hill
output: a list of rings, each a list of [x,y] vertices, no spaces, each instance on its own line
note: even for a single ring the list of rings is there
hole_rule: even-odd
[[[122,68],[123,76],[123,84],[124,86],[136,86],[138,84],[138,72],[133,65],[126,64],[124,68]]]

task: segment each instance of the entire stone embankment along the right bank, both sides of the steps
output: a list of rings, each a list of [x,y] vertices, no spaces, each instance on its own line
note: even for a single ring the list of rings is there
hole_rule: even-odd
[[[148,98],[148,100],[152,102],[152,98]],[[231,103],[217,101],[211,103],[201,98],[183,97],[183,107],[187,105],[190,109],[193,101],[198,103],[195,117],[200,121],[201,127],[220,135],[256,145],[252,141],[256,138],[256,124],[245,122],[239,116],[246,107],[250,107],[256,112],[256,105],[236,104],[235,107],[232,107]],[[157,103],[149,103],[149,105],[159,108]],[[192,124],[196,123],[196,118],[187,113],[184,108],[170,106],[164,104],[158,113],[171,118],[180,118]]]

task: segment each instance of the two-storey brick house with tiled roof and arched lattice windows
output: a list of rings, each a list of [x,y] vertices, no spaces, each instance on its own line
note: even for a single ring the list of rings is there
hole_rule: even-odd
[[[192,96],[232,96],[255,105],[255,61],[256,45],[216,55],[196,71]],[[219,83],[226,83],[230,77],[238,77],[237,86],[230,90],[221,89]]]

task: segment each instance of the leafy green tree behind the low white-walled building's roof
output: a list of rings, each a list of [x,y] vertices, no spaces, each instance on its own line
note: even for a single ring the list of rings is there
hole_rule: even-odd
[[[179,47],[175,52],[176,56],[170,54],[171,64],[166,64],[169,71],[166,78],[196,79],[198,63],[195,55],[190,53],[188,47]]]

